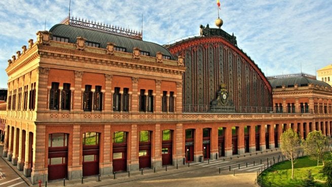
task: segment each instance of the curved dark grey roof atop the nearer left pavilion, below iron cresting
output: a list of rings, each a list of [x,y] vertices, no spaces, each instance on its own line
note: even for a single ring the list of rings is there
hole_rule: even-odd
[[[50,29],[50,32],[53,36],[69,38],[69,43],[76,43],[77,37],[83,37],[88,42],[99,43],[100,48],[106,48],[107,43],[111,42],[118,47],[126,48],[126,52],[129,53],[133,52],[134,47],[138,47],[142,51],[150,52],[150,56],[156,57],[157,52],[160,51],[164,55],[171,56],[172,60],[175,60],[174,56],[166,48],[152,42],[135,40],[66,24],[56,24]]]

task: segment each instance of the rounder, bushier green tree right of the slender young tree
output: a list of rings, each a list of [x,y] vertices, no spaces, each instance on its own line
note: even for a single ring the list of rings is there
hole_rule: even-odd
[[[310,132],[307,139],[302,141],[302,147],[311,159],[317,160],[317,166],[319,160],[322,160],[324,166],[328,151],[328,139],[321,131]]]

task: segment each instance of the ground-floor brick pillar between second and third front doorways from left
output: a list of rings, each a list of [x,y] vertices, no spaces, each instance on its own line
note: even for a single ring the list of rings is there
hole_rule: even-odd
[[[99,173],[101,175],[109,175],[112,174],[113,171],[113,163],[110,160],[110,155],[112,152],[110,151],[110,142],[111,142],[111,134],[110,134],[110,125],[104,125],[104,137],[103,137],[103,161],[100,163]]]

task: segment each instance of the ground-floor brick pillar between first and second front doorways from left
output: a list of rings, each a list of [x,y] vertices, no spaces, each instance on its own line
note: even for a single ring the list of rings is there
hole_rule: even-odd
[[[70,135],[69,135],[70,136]],[[68,179],[81,178],[83,176],[81,159],[81,126],[80,124],[72,127],[72,165],[68,166]],[[70,148],[70,147],[69,147]],[[70,158],[68,158],[70,159]]]

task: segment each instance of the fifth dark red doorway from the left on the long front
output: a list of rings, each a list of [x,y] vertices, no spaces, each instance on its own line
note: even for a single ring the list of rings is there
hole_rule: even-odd
[[[173,131],[164,130],[163,131],[163,141],[161,148],[162,162],[164,165],[172,164],[172,149],[173,149]]]

